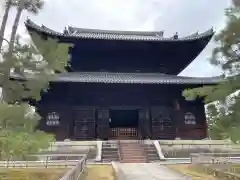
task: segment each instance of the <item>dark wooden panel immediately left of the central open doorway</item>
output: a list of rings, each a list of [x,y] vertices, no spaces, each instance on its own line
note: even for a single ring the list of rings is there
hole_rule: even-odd
[[[108,140],[110,135],[109,109],[98,109],[97,136],[99,139]]]

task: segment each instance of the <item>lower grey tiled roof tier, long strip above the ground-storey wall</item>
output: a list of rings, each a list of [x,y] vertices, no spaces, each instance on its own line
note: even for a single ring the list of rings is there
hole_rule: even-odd
[[[20,78],[17,75],[12,77]],[[29,76],[28,78],[33,77]],[[71,72],[58,74],[52,81],[106,84],[217,84],[223,79],[221,77],[193,78],[159,73]]]

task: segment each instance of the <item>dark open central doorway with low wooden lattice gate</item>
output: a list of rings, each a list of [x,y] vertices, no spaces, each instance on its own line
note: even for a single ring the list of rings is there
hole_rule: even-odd
[[[137,139],[138,110],[111,110],[109,123],[113,139]]]

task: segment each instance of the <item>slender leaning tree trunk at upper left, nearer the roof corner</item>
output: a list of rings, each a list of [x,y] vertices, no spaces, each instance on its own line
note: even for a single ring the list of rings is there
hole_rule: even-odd
[[[17,8],[17,14],[14,19],[14,23],[12,26],[12,33],[11,33],[10,44],[9,44],[9,49],[8,49],[8,57],[11,57],[12,53],[13,53],[14,42],[15,42],[15,38],[16,38],[16,34],[17,34],[17,28],[19,25],[19,21],[20,21],[21,15],[22,15],[22,11],[23,11],[23,8],[21,7],[21,5],[19,5],[19,7]]]

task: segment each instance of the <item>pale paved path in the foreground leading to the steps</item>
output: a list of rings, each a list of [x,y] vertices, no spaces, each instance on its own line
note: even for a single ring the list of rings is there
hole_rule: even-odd
[[[117,164],[118,168],[124,173],[125,180],[190,180],[180,173],[157,164]]]

